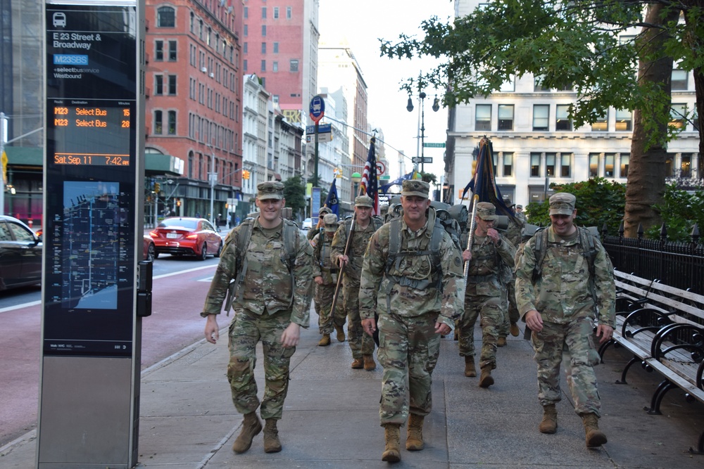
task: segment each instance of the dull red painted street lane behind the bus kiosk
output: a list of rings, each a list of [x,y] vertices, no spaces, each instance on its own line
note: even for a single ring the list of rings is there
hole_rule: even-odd
[[[142,319],[142,369],[203,338],[215,265],[154,278],[152,314]],[[41,304],[0,311],[0,447],[37,426]]]

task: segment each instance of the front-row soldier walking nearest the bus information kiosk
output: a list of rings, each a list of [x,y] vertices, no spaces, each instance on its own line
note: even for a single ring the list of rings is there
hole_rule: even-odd
[[[230,363],[227,366],[232,401],[237,411],[244,414],[241,433],[232,445],[237,453],[247,451],[252,439],[262,430],[256,415],[258,407],[266,421],[264,451],[281,451],[276,424],[282,416],[288,390],[289,362],[298,345],[300,328],[307,328],[309,322],[313,248],[293,222],[282,219],[285,203],[283,184],[277,181],[258,184],[256,205],[260,214],[227,235],[201,313],[207,318],[206,340],[214,344],[219,338],[216,318],[228,285],[238,278],[246,264],[246,275],[241,276],[239,293],[232,303],[234,317],[230,323]],[[248,232],[251,232],[249,245],[244,252],[238,252],[241,249],[238,246],[245,243],[239,237],[247,236]],[[294,253],[285,252],[284,234],[287,233],[295,236]],[[290,272],[287,255],[295,255]],[[259,340],[263,344],[265,375],[261,406],[254,379]]]

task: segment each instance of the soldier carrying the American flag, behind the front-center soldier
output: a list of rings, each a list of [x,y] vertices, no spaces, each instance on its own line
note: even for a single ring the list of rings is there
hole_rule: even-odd
[[[354,201],[356,221],[351,246],[345,255],[347,237],[350,236],[352,220],[346,220],[335,232],[332,240],[331,259],[342,266],[344,277],[344,309],[347,315],[347,335],[352,350],[352,368],[364,368],[371,371],[377,368],[374,361],[374,340],[364,334],[362,320],[359,316],[359,281],[362,273],[362,260],[367,243],[377,231],[377,224],[372,219],[374,201],[369,195],[360,195]]]

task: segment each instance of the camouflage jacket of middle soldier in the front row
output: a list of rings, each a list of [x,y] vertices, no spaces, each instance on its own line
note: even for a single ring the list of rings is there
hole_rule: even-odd
[[[440,243],[441,288],[429,285],[424,289],[392,282],[386,275],[386,259],[389,257],[390,224],[384,224],[372,236],[364,255],[362,281],[359,290],[359,312],[362,319],[390,314],[414,317],[440,313],[438,322],[454,328],[455,319],[462,313],[465,296],[462,256],[448,233],[443,231]],[[433,225],[428,223],[418,231],[410,231],[406,221],[401,221],[400,252],[422,250],[429,244]],[[425,238],[425,239],[424,239]],[[397,268],[398,265],[398,268]],[[410,279],[431,278],[434,274],[432,256],[407,255],[389,269],[389,275]],[[390,307],[390,308],[389,308]]]

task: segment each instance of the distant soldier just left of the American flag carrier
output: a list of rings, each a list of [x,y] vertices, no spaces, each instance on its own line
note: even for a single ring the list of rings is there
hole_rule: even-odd
[[[337,340],[345,341],[344,325],[346,321],[345,311],[342,302],[335,305],[335,313],[331,314],[332,297],[335,295],[337,287],[337,276],[339,269],[337,264],[330,259],[332,250],[332,238],[335,236],[339,225],[337,215],[329,213],[323,219],[324,231],[315,235],[311,244],[313,245],[313,281],[315,281],[315,312],[318,313],[318,328],[322,338],[318,345],[325,347],[330,345],[330,333],[334,326],[337,330]]]

